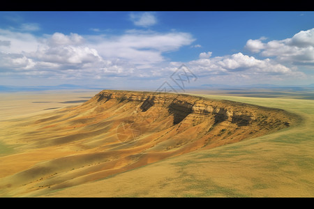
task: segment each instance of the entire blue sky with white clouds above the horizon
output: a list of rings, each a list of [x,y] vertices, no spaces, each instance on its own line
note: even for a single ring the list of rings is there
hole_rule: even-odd
[[[311,11],[0,11],[0,86],[314,84]]]

